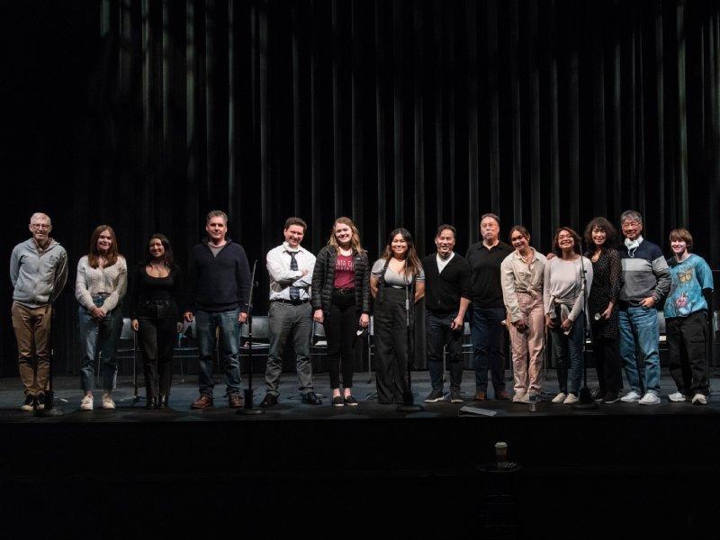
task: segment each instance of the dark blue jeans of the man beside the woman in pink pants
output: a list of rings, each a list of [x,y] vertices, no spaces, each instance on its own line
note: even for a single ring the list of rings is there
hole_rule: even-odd
[[[488,389],[488,368],[495,393],[505,390],[505,328],[500,321],[506,317],[505,308],[473,308],[470,337],[473,340],[475,387],[482,392]]]

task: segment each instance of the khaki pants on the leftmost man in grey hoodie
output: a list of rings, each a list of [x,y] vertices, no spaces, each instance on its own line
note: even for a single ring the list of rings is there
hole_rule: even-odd
[[[48,389],[52,308],[28,308],[13,302],[12,313],[23,390],[25,395],[37,396]]]

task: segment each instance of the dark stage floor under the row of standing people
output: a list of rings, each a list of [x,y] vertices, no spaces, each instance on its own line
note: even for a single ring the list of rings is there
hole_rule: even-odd
[[[215,407],[208,410],[191,410],[190,403],[197,397],[197,383],[193,376],[186,376],[183,382],[176,377],[170,394],[170,409],[166,411],[145,410],[145,391],[139,387],[139,401],[133,400],[134,390],[132,380],[121,377],[118,387],[113,392],[117,408],[115,410],[102,410],[100,408],[102,391],[94,392],[95,410],[80,410],[80,400],[83,392],[77,387],[77,377],[56,377],[57,406],[65,414],[57,419],[37,418],[31,412],[19,410],[23,402],[20,380],[17,378],[0,379],[0,422],[142,422],[142,421],[258,421],[258,420],[342,420],[342,419],[442,419],[459,416],[464,406],[479,407],[495,413],[495,418],[532,417],[532,416],[583,416],[583,415],[717,415],[720,414],[720,394],[710,396],[707,406],[692,405],[690,402],[675,403],[667,399],[675,386],[671,377],[663,374],[661,380],[662,403],[651,407],[641,406],[637,403],[617,403],[599,405],[597,410],[574,410],[567,405],[556,405],[549,401],[557,392],[557,382],[554,372],[547,374],[543,385],[543,400],[536,405],[536,411],[531,411],[526,403],[513,403],[512,401],[473,401],[474,373],[466,371],[464,374],[463,404],[454,404],[449,401],[438,403],[424,403],[423,400],[430,392],[429,376],[427,372],[413,374],[413,388],[415,402],[424,410],[413,413],[401,413],[392,405],[380,405],[374,400],[374,378],[368,383],[367,373],[356,374],[356,383],[353,389],[356,399],[360,402],[357,407],[332,407],[329,396],[332,392],[329,387],[327,374],[316,375],[314,379],[315,392],[323,398],[322,405],[306,405],[301,402],[300,392],[296,386],[296,376],[293,373],[284,374],[280,384],[280,398],[275,407],[265,410],[265,414],[257,416],[237,415],[230,410],[225,399],[225,384],[216,379]],[[141,382],[141,379],[140,379]],[[247,384],[247,378],[243,381]],[[255,406],[265,395],[265,383],[260,377],[254,377]],[[512,393],[512,381],[507,381],[507,389]],[[589,375],[589,386],[594,388],[597,380]],[[712,377],[711,388],[720,387],[720,377]],[[446,383],[446,392],[449,384]],[[626,391],[624,391],[626,392]],[[624,393],[623,392],[623,393]],[[489,392],[492,397],[492,392]]]

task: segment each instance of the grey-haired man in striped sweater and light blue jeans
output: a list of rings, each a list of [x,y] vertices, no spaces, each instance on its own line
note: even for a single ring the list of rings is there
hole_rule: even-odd
[[[660,403],[660,331],[656,306],[670,290],[670,270],[662,249],[642,237],[643,216],[639,212],[624,211],[620,226],[626,237],[625,246],[620,248],[624,282],[619,297],[620,356],[630,386],[630,392],[622,401],[657,405]],[[638,352],[644,370],[638,365]],[[642,381],[641,371],[644,371]]]

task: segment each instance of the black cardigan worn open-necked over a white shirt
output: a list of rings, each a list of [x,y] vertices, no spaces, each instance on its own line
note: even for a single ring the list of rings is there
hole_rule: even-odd
[[[456,313],[460,299],[470,300],[470,265],[455,253],[442,272],[437,271],[437,254],[422,259],[425,270],[425,309],[433,315]]]

